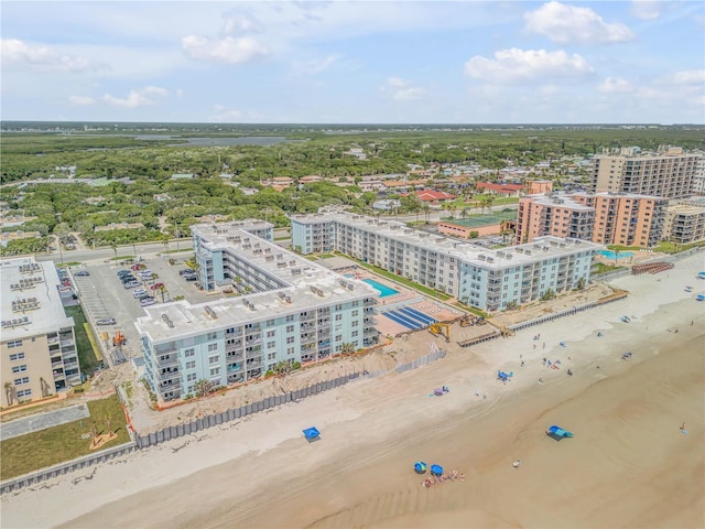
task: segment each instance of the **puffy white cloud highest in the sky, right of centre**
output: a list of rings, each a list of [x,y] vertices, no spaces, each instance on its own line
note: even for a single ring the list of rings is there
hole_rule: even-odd
[[[634,35],[619,22],[605,22],[589,8],[547,2],[524,14],[525,29],[558,44],[605,44],[631,41]]]

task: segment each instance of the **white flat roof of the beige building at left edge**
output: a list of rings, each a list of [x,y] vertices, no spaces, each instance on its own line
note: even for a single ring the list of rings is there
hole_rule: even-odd
[[[33,257],[2,259],[0,272],[2,342],[74,325],[64,312],[53,262],[35,262]]]

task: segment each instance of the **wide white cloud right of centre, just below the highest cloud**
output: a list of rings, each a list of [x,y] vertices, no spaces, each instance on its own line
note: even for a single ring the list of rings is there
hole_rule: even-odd
[[[476,55],[465,63],[465,74],[474,79],[498,83],[522,80],[553,80],[589,76],[593,68],[578,54],[568,55],[563,50],[500,50],[495,58]]]

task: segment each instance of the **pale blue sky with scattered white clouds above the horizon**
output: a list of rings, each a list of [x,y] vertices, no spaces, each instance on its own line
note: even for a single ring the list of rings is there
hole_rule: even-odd
[[[2,0],[3,120],[705,123],[701,1]]]

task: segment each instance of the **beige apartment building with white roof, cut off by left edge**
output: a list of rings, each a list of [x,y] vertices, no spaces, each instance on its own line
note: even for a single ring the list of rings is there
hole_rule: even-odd
[[[0,276],[2,408],[80,384],[74,319],[64,312],[54,263],[3,259]]]

